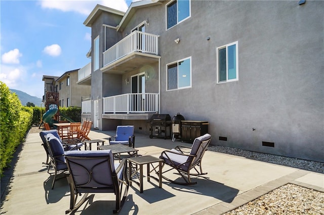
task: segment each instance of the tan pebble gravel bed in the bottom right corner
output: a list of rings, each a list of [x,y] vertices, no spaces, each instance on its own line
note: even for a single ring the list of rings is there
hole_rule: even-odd
[[[287,184],[224,214],[324,214],[324,193]]]

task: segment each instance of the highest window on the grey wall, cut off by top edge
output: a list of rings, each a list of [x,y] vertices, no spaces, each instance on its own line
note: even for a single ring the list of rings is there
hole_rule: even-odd
[[[190,17],[191,0],[175,0],[167,5],[167,29]]]

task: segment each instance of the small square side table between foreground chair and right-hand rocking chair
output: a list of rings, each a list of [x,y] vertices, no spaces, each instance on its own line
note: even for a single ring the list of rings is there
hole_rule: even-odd
[[[151,155],[145,155],[140,157],[131,157],[127,158],[129,163],[129,179],[130,179],[130,185],[132,185],[132,182],[136,183],[140,187],[140,193],[143,193],[143,165],[147,164],[147,181],[150,181],[150,178],[154,179],[158,182],[158,187],[162,187],[162,162],[163,159],[159,159],[157,157],[153,157]],[[153,163],[158,162],[158,171],[156,170],[157,166],[153,166]],[[133,163],[135,164],[133,166]],[[139,165],[139,168],[138,168]],[[150,171],[150,165],[153,167],[153,169]],[[155,171],[155,173],[158,174],[158,178],[151,176],[150,173],[152,171]],[[134,173],[132,173],[134,171]],[[134,175],[138,174],[138,171],[140,171],[140,178],[139,182],[134,181],[132,177]]]

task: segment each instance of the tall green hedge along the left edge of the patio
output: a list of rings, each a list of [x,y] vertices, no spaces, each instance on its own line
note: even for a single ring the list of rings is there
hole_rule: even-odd
[[[33,110],[24,107],[18,96],[0,81],[0,175],[8,167],[17,146],[31,127]]]

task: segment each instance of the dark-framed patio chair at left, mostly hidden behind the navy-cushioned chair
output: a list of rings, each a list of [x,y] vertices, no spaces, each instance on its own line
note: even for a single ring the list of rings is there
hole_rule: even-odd
[[[45,152],[46,152],[46,156],[47,156],[46,162],[43,162],[43,164],[46,164],[46,165],[51,164],[49,162],[50,154],[49,154],[49,149],[48,149],[48,146],[47,146],[47,143],[46,143],[46,137],[45,137],[47,134],[54,135],[60,141],[60,143],[62,144],[62,146],[64,148],[64,151],[73,150],[73,149],[79,149],[80,150],[81,147],[83,146],[83,143],[81,143],[81,141],[78,140],[78,139],[71,139],[71,140],[63,142],[61,140],[59,134],[57,133],[57,130],[39,132],[39,136],[41,136],[41,139],[43,141],[42,146],[44,147]],[[48,171],[49,171],[49,169],[48,169]]]

